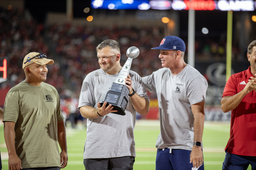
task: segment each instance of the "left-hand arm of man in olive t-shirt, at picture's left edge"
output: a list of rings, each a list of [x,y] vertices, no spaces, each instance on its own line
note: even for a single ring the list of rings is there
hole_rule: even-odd
[[[9,169],[19,170],[21,168],[21,160],[16,154],[15,150],[15,131],[14,131],[15,123],[11,121],[5,121],[4,123],[4,136],[5,136],[5,144],[8,150],[8,164]]]

